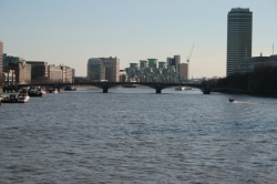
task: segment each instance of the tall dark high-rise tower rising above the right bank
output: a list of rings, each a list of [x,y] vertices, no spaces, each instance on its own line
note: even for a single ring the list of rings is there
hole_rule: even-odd
[[[248,8],[233,8],[227,25],[227,75],[233,74],[235,63],[252,57],[253,12]]]

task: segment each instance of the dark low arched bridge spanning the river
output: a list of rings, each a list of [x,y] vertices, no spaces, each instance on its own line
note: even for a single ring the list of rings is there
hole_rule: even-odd
[[[9,91],[18,91],[28,86],[44,86],[44,88],[54,88],[58,91],[61,91],[63,88],[68,85],[91,85],[96,86],[103,90],[103,93],[107,93],[109,89],[122,86],[122,85],[143,85],[147,88],[152,88],[156,91],[156,93],[162,93],[162,90],[173,86],[188,86],[195,88],[203,91],[204,94],[209,94],[211,89],[207,85],[199,83],[162,83],[162,82],[81,82],[81,83],[30,83],[30,84],[18,84],[18,85],[9,85],[3,86],[3,92]]]

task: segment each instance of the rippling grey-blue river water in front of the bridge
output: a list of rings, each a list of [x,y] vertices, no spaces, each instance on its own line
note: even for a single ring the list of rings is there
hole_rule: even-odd
[[[2,104],[0,183],[277,183],[276,110],[276,99],[174,89]]]

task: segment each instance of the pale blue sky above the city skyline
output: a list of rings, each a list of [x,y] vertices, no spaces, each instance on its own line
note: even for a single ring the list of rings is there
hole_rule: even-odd
[[[123,70],[153,58],[185,63],[192,52],[189,78],[223,78],[237,7],[253,12],[253,57],[277,54],[277,0],[0,0],[0,40],[4,53],[76,76],[90,58],[116,57]]]

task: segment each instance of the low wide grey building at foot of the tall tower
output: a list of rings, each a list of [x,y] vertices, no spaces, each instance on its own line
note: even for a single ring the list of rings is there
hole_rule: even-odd
[[[277,54],[270,57],[253,57],[240,59],[236,62],[234,73],[247,73],[255,70],[258,65],[277,65]]]

